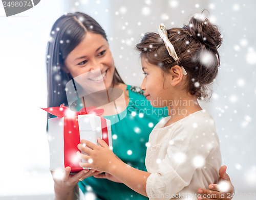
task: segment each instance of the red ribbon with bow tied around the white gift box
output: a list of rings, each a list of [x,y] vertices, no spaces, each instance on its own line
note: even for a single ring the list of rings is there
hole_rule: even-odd
[[[57,117],[64,117],[64,165],[70,166],[71,172],[78,172],[82,170],[77,160],[76,152],[79,151],[77,145],[80,143],[78,115],[94,114],[100,117],[102,139],[109,145],[108,127],[106,126],[106,119],[101,117],[104,109],[95,109],[95,107],[88,107],[86,110],[82,108],[79,112],[71,111],[68,107],[60,105],[60,107],[42,108],[42,110],[55,115]]]

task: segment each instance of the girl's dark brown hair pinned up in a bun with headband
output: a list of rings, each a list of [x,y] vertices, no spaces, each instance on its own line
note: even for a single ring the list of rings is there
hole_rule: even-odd
[[[165,73],[175,65],[183,66],[188,76],[187,91],[198,99],[206,98],[207,85],[214,81],[220,66],[217,49],[222,36],[218,27],[207,18],[192,17],[188,25],[169,29],[167,35],[178,55],[177,61],[169,56],[163,40],[156,33],[146,33],[136,49],[148,63],[158,65]]]

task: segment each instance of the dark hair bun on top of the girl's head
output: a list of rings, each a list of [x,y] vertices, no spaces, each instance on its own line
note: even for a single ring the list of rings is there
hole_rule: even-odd
[[[218,27],[207,18],[204,20],[192,17],[187,26],[184,26],[190,35],[211,48],[214,52],[222,43],[222,36]]]

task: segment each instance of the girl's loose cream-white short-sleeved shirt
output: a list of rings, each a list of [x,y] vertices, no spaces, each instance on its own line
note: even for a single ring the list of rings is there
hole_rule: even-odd
[[[150,199],[197,199],[198,188],[216,183],[221,167],[214,119],[197,111],[164,127],[163,118],[152,130],[146,151],[146,181]]]

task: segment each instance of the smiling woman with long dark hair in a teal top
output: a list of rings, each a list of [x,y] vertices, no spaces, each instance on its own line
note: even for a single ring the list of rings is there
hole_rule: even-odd
[[[159,119],[168,115],[167,108],[151,107],[139,88],[124,84],[115,68],[105,32],[93,18],[79,12],[61,16],[54,23],[48,42],[48,107],[60,104],[68,106],[66,83],[94,69],[101,71],[106,88],[119,88],[125,96],[127,116],[111,126],[112,134],[115,135],[113,152],[125,163],[145,170],[145,144],[148,141],[148,133]],[[106,118],[113,117],[115,116]],[[71,175],[70,170],[70,167],[66,167],[62,180],[56,179],[53,173],[56,199],[77,199],[77,185],[84,194],[95,194],[95,199],[147,199],[124,184],[113,182],[118,180],[109,174],[97,176],[99,172],[84,169]],[[92,176],[105,179],[96,179]],[[225,176],[225,172],[220,173],[220,178],[225,179]],[[214,186],[216,189],[218,185]],[[211,192],[203,190],[202,194]]]

